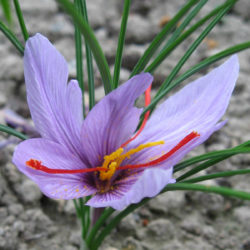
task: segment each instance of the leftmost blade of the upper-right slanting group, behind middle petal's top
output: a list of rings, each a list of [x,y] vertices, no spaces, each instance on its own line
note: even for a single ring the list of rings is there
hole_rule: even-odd
[[[188,1],[179,12],[164,26],[161,32],[154,38],[149,47],[146,49],[140,60],[135,65],[130,77],[140,73],[148,64],[149,60],[152,58],[153,54],[165,40],[167,35],[169,35],[172,30],[176,27],[180,19],[192,8],[193,5],[197,4],[196,0]]]

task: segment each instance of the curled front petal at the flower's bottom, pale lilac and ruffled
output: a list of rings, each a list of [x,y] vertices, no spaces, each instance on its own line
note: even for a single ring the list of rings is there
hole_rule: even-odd
[[[172,179],[172,169],[147,169],[137,178],[133,185],[127,185],[131,180],[124,180],[112,191],[105,194],[97,194],[92,197],[87,205],[92,207],[113,207],[122,210],[130,204],[138,203],[143,198],[154,197],[169,183],[174,183]]]

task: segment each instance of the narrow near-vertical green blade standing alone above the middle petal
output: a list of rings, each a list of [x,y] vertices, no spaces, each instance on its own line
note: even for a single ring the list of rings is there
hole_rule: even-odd
[[[121,28],[120,28],[119,38],[118,38],[118,46],[117,46],[115,66],[114,66],[113,83],[114,83],[115,88],[118,87],[119,79],[120,79],[120,70],[121,70],[121,65],[122,65],[122,52],[123,52],[123,46],[125,42],[125,34],[126,34],[126,29],[127,29],[127,21],[128,21],[130,4],[131,4],[131,0],[124,1]]]

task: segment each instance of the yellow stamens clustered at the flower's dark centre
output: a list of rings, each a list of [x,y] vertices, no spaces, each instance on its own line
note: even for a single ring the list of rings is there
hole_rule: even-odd
[[[149,142],[146,144],[141,144],[137,148],[133,148],[129,150],[128,152],[124,153],[123,155],[122,153],[124,149],[118,148],[112,154],[105,155],[102,167],[105,168],[106,170],[99,171],[100,180],[102,181],[110,180],[112,176],[114,175],[116,169],[121,165],[122,161],[125,160],[126,158],[129,159],[131,155],[138,153],[145,148],[154,147],[154,146],[158,146],[161,144],[164,144],[164,141]]]

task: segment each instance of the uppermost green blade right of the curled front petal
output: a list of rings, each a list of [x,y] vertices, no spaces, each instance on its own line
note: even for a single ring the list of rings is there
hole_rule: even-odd
[[[199,155],[199,156],[195,156],[192,157],[190,159],[187,159],[181,163],[178,163],[177,165],[174,166],[174,173],[190,166],[193,165],[195,163],[201,162],[201,161],[205,161],[205,160],[210,160],[213,158],[217,158],[220,156],[232,156],[235,154],[240,154],[240,153],[246,153],[248,152],[248,149],[245,149],[246,147],[250,146],[250,141],[247,141],[245,143],[242,143],[234,148],[230,148],[230,149],[224,149],[224,150],[219,150],[219,151],[214,151],[214,152],[209,152],[203,155]]]

